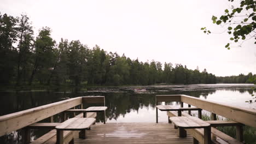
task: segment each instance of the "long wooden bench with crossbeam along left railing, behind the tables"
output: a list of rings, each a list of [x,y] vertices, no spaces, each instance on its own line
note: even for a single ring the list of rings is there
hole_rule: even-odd
[[[96,112],[88,112],[87,116],[88,118],[95,118],[97,116]],[[75,116],[77,118],[82,118],[83,113],[80,113],[79,115]],[[56,143],[57,137],[57,131],[55,130],[55,127],[59,125],[60,123],[34,123],[28,126],[31,129],[36,128],[45,128],[45,129],[54,129],[46,133],[45,135],[39,137],[38,139],[31,142],[31,144],[44,144],[44,143]],[[74,141],[74,135],[78,134],[79,131],[64,131],[63,133],[63,142],[72,144]]]

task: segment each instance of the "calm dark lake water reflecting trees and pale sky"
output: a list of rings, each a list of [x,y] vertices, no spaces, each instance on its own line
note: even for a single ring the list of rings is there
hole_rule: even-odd
[[[56,101],[82,97],[86,95],[103,95],[106,98],[107,123],[122,122],[155,122],[156,94],[187,94],[193,97],[213,100],[225,104],[256,109],[256,103],[245,101],[252,99],[251,84],[217,84],[217,85],[157,85],[104,88],[66,88],[37,89],[32,91],[13,91],[5,89],[0,94],[0,115],[54,103]],[[165,104],[165,103],[162,103]],[[168,103],[178,105],[178,103]],[[204,112],[206,113],[206,112]],[[60,122],[60,115],[54,117]],[[44,122],[49,121],[45,119]],[[97,117],[102,122],[102,117]],[[159,122],[167,122],[166,112],[159,112]],[[32,131],[32,139],[46,131]],[[0,137],[0,143],[20,143],[21,130]]]

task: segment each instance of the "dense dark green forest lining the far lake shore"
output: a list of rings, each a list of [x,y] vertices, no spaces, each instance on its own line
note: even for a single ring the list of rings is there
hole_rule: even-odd
[[[140,62],[125,54],[107,52],[79,40],[51,37],[42,27],[34,36],[27,15],[14,17],[0,13],[0,85],[152,85],[156,83],[253,83],[256,75],[217,77],[188,69],[186,65],[158,61]]]

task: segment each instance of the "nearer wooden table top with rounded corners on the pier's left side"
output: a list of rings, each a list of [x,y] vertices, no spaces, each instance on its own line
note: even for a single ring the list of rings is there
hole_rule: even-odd
[[[69,118],[55,128],[59,130],[84,130],[90,128],[95,122],[95,118]]]

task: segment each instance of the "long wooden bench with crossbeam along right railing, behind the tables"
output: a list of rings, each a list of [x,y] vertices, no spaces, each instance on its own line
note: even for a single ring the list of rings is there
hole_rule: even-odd
[[[177,117],[178,112],[175,111],[167,111],[168,117]],[[187,113],[182,112],[182,116],[190,116]],[[211,136],[212,137],[218,137],[219,139],[212,139],[212,143],[242,143],[233,137],[226,135],[225,133],[222,133],[222,131],[217,130],[216,128],[213,127],[219,127],[219,126],[236,126],[236,125],[241,125],[241,123],[237,123],[234,121],[207,121],[208,123],[211,124]],[[226,125],[225,125],[226,124]],[[188,131],[189,134],[191,134],[194,139],[193,143],[203,143],[204,142],[204,136],[203,136],[203,129],[185,129]]]

